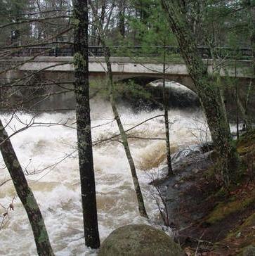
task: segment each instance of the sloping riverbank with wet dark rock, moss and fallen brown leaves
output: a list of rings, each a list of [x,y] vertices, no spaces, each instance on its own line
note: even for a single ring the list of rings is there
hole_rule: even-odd
[[[243,255],[255,245],[255,130],[236,143],[242,166],[230,191],[214,172],[211,148],[191,151],[174,178],[159,181],[176,239],[188,255]]]

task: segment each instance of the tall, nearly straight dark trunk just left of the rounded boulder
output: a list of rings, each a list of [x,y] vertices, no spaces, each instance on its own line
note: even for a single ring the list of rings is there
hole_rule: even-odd
[[[77,101],[77,141],[84,236],[86,246],[99,248],[100,239],[89,108],[88,4],[86,0],[73,0],[73,6],[74,19],[77,20],[74,24],[74,91]]]

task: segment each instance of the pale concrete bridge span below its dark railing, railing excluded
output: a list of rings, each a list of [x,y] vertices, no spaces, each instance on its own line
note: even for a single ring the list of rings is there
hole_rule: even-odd
[[[0,60],[0,78],[1,83],[10,83],[13,79],[21,78],[24,73],[34,72],[41,79],[65,79],[73,81],[74,65],[72,57],[68,56],[39,56],[13,57],[6,60]],[[115,81],[125,79],[140,79],[147,83],[155,79],[162,78],[162,63],[156,58],[127,58],[112,57],[112,72]],[[225,60],[219,63],[219,60],[204,60],[209,73],[218,72],[221,77],[236,77],[240,82],[247,83],[252,77],[251,60],[237,60],[235,65],[233,60]],[[6,72],[3,70],[6,69]],[[89,76],[91,79],[105,79],[106,64],[103,57],[89,58]],[[179,82],[189,89],[193,89],[192,79],[188,74],[185,63],[180,58],[173,58],[166,64],[166,79]]]

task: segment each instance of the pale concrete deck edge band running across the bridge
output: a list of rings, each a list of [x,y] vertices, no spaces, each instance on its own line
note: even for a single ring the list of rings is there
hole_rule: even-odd
[[[51,72],[72,72],[74,65],[72,64],[72,57],[49,57],[40,56],[37,58],[15,57],[9,60],[0,60],[0,65],[3,67],[6,64],[17,66],[20,71],[51,71]],[[128,58],[128,57],[112,57],[112,72],[114,75],[131,75],[146,76],[146,75],[162,75],[162,63],[158,62],[157,58]],[[212,60],[204,60],[211,73],[214,64]],[[252,76],[252,62],[250,60],[238,60],[237,63],[237,77],[253,77]],[[216,63],[217,65],[217,63]],[[103,57],[89,58],[89,72],[98,73],[102,76],[106,72],[105,59]],[[233,67],[233,60],[227,60],[224,66],[221,66],[218,72],[221,76],[235,77],[235,68]],[[188,76],[188,70],[185,63],[180,58],[167,63],[166,75],[182,75]]]

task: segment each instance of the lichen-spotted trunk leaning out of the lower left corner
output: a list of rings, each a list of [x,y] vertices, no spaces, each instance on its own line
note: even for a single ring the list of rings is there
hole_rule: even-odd
[[[0,120],[0,151],[8,172],[13,179],[15,190],[20,198],[22,205],[25,207],[27,217],[30,220],[34,241],[37,245],[39,256],[54,255],[51,243],[48,239],[48,233],[44,224],[44,218],[41,215],[37,200],[34,198],[32,190],[27,184],[27,180],[20,166],[20,162],[15,154],[11,140],[8,138],[6,130]]]

